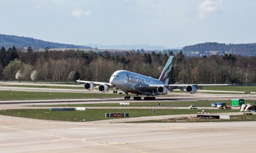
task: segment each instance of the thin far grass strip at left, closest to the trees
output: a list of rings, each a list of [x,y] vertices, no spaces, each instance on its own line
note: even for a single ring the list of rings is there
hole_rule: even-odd
[[[83,89],[83,86],[5,85],[5,84],[0,84],[0,86],[19,87],[19,88]]]

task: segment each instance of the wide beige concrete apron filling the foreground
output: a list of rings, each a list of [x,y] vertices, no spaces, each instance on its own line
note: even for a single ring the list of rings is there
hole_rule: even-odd
[[[0,116],[1,152],[254,152],[256,122],[86,123]]]

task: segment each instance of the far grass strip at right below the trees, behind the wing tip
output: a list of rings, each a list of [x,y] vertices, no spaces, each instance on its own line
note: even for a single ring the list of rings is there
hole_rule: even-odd
[[[207,86],[203,90],[256,92],[256,86]]]

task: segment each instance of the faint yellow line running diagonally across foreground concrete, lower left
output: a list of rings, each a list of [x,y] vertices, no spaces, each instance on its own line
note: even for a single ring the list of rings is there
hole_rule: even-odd
[[[49,134],[44,134],[44,133],[38,133],[38,132],[30,131],[30,130],[24,130],[24,129],[6,127],[6,126],[0,126],[0,127],[6,128],[6,129],[18,130],[18,131],[27,132],[27,133],[32,133],[32,134],[37,134],[37,135],[44,135],[44,136],[50,136],[50,137],[55,137],[55,138],[61,138],[61,139],[58,139],[58,140],[69,139],[69,140],[75,140],[75,141],[79,141],[79,142],[97,144],[97,145],[100,145],[100,146],[112,147],[112,148],[117,148],[117,149],[122,149],[122,150],[133,151],[133,152],[147,153],[147,152],[144,152],[144,151],[139,151],[139,150],[134,150],[134,149],[129,149],[129,148],[123,148],[123,147],[118,147],[118,146],[111,146],[111,145],[108,145],[108,144],[102,144],[102,143],[97,143],[97,142],[86,141],[87,138],[82,139],[82,140],[79,140],[79,139],[73,139],[73,138],[67,138],[67,137],[54,136],[54,135],[49,135]]]

